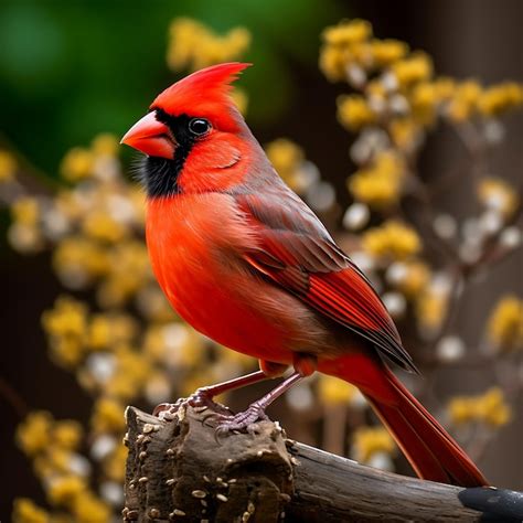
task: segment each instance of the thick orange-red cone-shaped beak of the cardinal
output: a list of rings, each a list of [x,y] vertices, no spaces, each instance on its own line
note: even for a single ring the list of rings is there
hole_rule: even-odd
[[[154,111],[148,113],[138,120],[126,132],[120,143],[134,147],[150,157],[162,157],[169,160],[173,159],[177,147],[169,127],[157,120]]]

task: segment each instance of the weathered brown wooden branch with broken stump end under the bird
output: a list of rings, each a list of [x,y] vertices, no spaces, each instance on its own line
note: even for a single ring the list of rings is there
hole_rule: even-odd
[[[523,494],[383,472],[286,439],[278,424],[216,441],[209,410],[166,421],[127,409],[127,521],[521,521]],[[467,506],[465,506],[467,504]],[[477,510],[474,510],[477,509]]]

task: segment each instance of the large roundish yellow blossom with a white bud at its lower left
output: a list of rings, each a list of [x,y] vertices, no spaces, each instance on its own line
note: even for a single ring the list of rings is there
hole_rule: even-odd
[[[391,152],[381,152],[373,164],[356,171],[348,180],[348,188],[360,202],[373,209],[386,209],[398,202],[402,192],[405,166]]]

